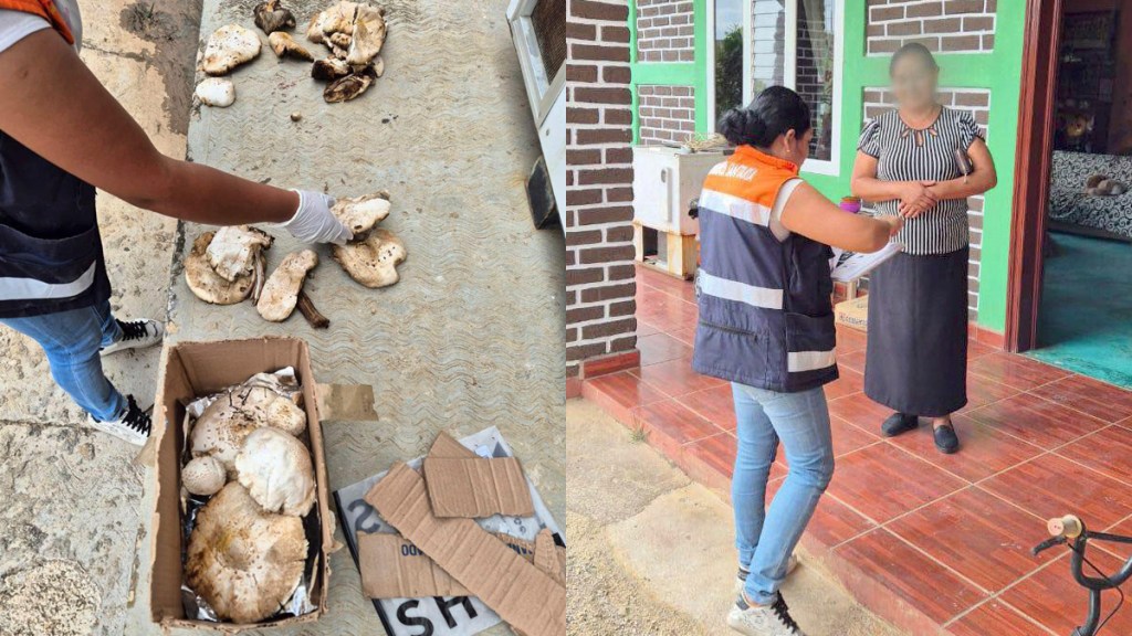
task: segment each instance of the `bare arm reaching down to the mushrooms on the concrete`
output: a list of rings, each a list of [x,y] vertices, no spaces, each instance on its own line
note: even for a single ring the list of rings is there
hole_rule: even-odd
[[[235,225],[300,221],[301,200],[317,208],[301,221],[329,223],[315,197],[162,155],[54,31],[33,33],[0,52],[0,130],[131,205]]]

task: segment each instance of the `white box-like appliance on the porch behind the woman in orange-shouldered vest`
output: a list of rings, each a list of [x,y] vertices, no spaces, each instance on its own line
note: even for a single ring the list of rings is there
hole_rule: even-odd
[[[692,235],[700,222],[688,203],[700,198],[707,172],[724,160],[721,151],[688,153],[666,146],[633,148],[633,218],[652,230]]]

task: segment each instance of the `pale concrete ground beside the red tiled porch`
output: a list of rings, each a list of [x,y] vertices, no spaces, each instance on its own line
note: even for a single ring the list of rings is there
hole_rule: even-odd
[[[731,509],[598,406],[566,406],[568,633],[728,634]],[[800,553],[783,595],[811,636],[899,636]]]

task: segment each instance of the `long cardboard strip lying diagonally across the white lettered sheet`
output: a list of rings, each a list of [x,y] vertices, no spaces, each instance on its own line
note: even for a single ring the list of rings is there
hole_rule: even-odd
[[[395,464],[365,499],[513,628],[528,636],[566,634],[566,586],[474,521],[434,515],[424,480],[408,464]]]

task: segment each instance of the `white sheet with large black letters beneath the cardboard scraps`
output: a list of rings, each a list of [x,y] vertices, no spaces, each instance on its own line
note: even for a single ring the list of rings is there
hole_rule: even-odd
[[[499,429],[491,427],[482,431],[468,436],[460,440],[464,447],[470,448],[480,457],[513,457],[511,446],[504,440]],[[409,465],[414,470],[420,470],[423,457],[418,457]],[[388,471],[386,471],[388,472]],[[358,532],[396,532],[392,525],[385,522],[363,497],[375,483],[385,476],[385,472],[352,483],[334,492],[334,499],[338,505],[338,513],[342,518],[342,531],[345,534],[350,552],[354,556],[354,566],[358,565]],[[550,510],[539,497],[539,491],[534,489],[531,479],[526,479],[526,485],[531,490],[531,500],[534,502],[534,516],[532,517],[507,517],[496,515],[482,519],[475,519],[480,527],[488,532],[509,534],[517,539],[534,541],[539,531],[543,527],[563,538],[565,535],[558,528]],[[358,591],[361,594],[361,591]],[[431,634],[432,636],[471,636],[484,629],[498,625],[501,619],[491,611],[490,608],[480,602],[474,596],[449,598],[449,599],[375,599],[374,607],[385,626],[388,636],[417,636],[419,634]]]

